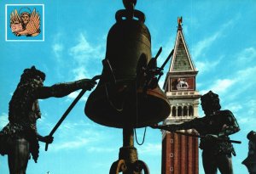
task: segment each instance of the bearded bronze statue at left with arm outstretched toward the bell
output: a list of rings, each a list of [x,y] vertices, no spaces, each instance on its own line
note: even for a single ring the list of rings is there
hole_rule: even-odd
[[[96,81],[83,79],[44,87],[45,74],[35,66],[23,71],[20,82],[9,102],[9,123],[0,132],[0,154],[8,155],[9,173],[25,174],[27,162],[37,162],[39,143],[52,143],[50,136],[41,136],[37,120],[41,117],[38,99],[61,98],[79,89],[90,90]]]

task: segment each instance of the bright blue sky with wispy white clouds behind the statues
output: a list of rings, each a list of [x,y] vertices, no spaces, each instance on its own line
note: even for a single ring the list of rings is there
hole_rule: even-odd
[[[0,129],[8,122],[9,100],[25,68],[36,65],[43,70],[46,86],[101,74],[108,30],[115,22],[115,12],[123,8],[120,0],[22,0],[19,3],[44,4],[44,42],[6,42],[5,4],[12,3],[17,1],[0,1]],[[247,132],[255,131],[256,124],[256,2],[148,0],[138,1],[136,8],[146,14],[153,55],[163,47],[159,65],[173,48],[177,17],[183,16],[183,33],[199,70],[197,90],[218,93],[222,108],[236,116],[241,131],[231,138],[242,143],[235,144],[233,166],[235,173],[247,173],[241,161],[247,157]],[[165,73],[168,68],[166,65]],[[164,80],[165,76],[160,86]],[[77,94],[40,100],[43,115],[38,132],[49,134]],[[47,152],[40,143],[38,164],[30,160],[27,174],[108,173],[118,160],[122,131],[98,125],[84,115],[88,94],[55,132]],[[143,129],[137,130],[137,136],[139,141],[143,139]],[[145,143],[136,147],[151,173],[160,174],[161,132],[148,127]],[[201,164],[200,171],[203,173]],[[0,156],[0,172],[8,173],[6,156]]]

